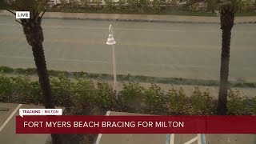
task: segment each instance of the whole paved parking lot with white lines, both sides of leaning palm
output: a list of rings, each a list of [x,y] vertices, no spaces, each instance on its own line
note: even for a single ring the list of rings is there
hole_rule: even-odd
[[[5,144],[45,144],[50,134],[16,134],[18,109],[43,106],[0,102],[0,140]],[[106,115],[134,115],[108,112]],[[138,114],[135,114],[138,115]],[[255,144],[255,134],[98,134],[96,144]]]

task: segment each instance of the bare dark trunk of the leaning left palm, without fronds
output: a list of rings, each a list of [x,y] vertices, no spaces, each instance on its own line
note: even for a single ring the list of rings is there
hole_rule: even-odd
[[[50,79],[46,68],[46,58],[42,46],[44,40],[42,33],[41,22],[34,22],[31,20],[22,20],[22,26],[26,40],[32,46],[34,55],[35,66],[37,67],[40,86],[42,89],[42,95],[44,98],[44,106],[46,109],[54,109],[54,98],[52,97],[50,90]],[[61,144],[61,138],[58,134],[51,134],[53,144]]]

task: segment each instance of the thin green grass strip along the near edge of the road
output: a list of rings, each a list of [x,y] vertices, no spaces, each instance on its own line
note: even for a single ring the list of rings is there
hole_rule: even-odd
[[[8,66],[0,66],[0,72],[2,74],[28,74],[35,75],[37,70],[34,68],[22,69],[22,68],[10,68]],[[67,78],[102,78],[104,80],[112,80],[112,74],[93,74],[84,71],[80,72],[68,72],[59,70],[48,70],[50,76],[58,77],[59,75],[64,75]],[[160,77],[150,77],[143,75],[117,75],[118,81],[128,81],[128,82],[156,82],[162,84],[174,84],[174,85],[196,85],[196,86],[218,86],[219,82],[217,80],[205,80],[205,79],[193,79],[193,78],[160,78]],[[256,82],[230,82],[231,87],[241,87],[241,88],[256,88]]]

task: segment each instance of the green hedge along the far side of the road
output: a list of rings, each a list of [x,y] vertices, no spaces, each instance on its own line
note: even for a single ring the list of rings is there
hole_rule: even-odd
[[[70,13],[115,13],[115,14],[174,14],[180,13],[185,15],[208,15],[217,16],[213,10],[216,6],[207,2],[195,2],[192,5],[179,5],[174,1],[163,0],[93,0],[87,2],[62,2],[48,8],[48,11],[70,12]],[[256,4],[254,0],[246,0],[235,4],[238,12],[251,13],[255,15]],[[194,14],[195,13],[195,14]]]

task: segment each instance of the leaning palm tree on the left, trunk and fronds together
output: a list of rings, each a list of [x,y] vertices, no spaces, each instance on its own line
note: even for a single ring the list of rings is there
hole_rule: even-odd
[[[54,99],[50,90],[49,74],[46,68],[46,58],[42,46],[44,40],[42,33],[42,16],[46,12],[46,4],[49,0],[1,0],[0,3],[3,10],[8,10],[15,14],[16,11],[30,11],[29,19],[16,20],[22,25],[26,41],[32,47],[35,66],[38,71],[38,77],[42,94],[44,98],[44,106],[46,109],[54,109]],[[53,143],[59,144],[61,140],[58,134],[51,135]]]

